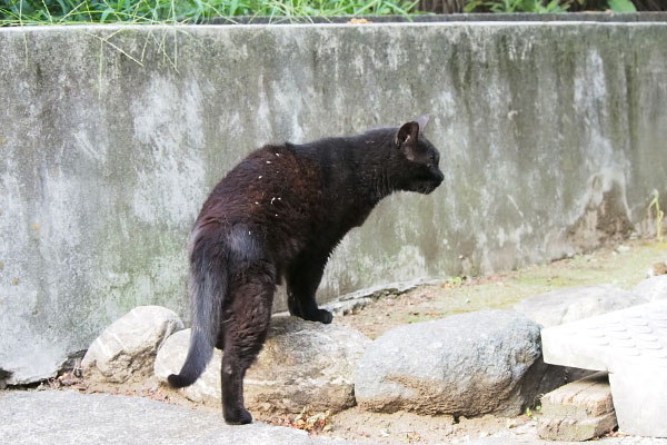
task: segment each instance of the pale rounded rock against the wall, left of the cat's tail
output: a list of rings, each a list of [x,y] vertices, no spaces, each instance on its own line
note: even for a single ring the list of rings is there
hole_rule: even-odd
[[[139,306],[113,322],[94,339],[81,367],[88,379],[111,383],[140,380],[152,375],[158,349],[182,329],[178,315],[160,306]]]

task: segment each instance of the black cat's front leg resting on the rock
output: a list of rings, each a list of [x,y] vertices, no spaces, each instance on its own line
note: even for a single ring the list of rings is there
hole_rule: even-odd
[[[287,270],[287,305],[289,313],[309,322],[331,323],[334,315],[317,306],[315,295],[322,279],[327,257],[302,255]]]

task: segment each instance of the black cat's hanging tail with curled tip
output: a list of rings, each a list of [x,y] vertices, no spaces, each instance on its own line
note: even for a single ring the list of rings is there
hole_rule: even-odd
[[[218,338],[222,299],[227,294],[225,247],[195,231],[190,245],[192,333],[190,349],[180,373],[167,379],[175,388],[192,385],[203,373]]]

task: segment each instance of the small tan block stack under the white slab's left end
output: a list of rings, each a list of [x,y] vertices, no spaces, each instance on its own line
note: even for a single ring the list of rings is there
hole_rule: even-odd
[[[541,398],[537,434],[547,441],[581,442],[616,427],[607,373],[573,382]]]

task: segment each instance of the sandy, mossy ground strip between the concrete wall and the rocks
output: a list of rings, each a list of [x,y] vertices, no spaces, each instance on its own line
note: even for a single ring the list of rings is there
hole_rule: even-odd
[[[427,322],[485,309],[510,309],[534,295],[566,287],[613,284],[631,289],[647,270],[667,259],[667,244],[630,241],[625,248],[604,248],[547,265],[442,285],[421,286],[388,296],[335,323],[361,330],[371,338],[409,323]]]

